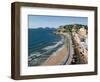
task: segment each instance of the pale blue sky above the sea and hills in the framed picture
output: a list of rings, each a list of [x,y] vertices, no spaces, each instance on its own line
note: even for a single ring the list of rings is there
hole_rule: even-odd
[[[53,27],[58,28],[60,25],[67,24],[88,24],[87,17],[71,17],[71,16],[41,16],[41,15],[29,15],[28,26],[29,28],[38,27]]]

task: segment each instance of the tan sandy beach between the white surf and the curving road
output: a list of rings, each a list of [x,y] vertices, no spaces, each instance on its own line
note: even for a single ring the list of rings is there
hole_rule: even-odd
[[[64,61],[68,58],[67,46],[64,45],[61,49],[58,49],[53,53],[43,64],[42,66],[48,65],[63,65]]]

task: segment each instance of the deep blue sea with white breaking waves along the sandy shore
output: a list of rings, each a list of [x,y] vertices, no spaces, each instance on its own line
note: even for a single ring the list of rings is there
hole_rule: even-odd
[[[54,28],[28,29],[28,66],[38,66],[63,45]]]

